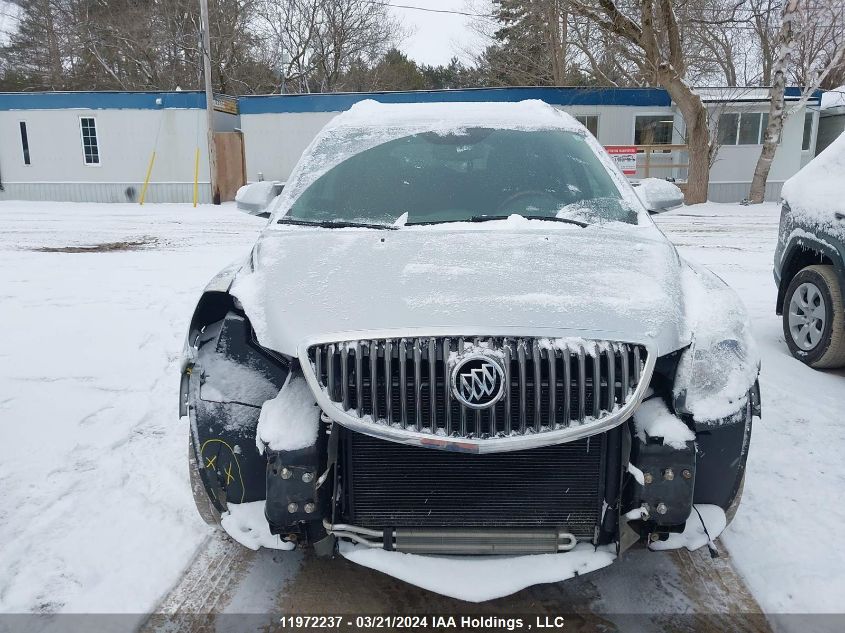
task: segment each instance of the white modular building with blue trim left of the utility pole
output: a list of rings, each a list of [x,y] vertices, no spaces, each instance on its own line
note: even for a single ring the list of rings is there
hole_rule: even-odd
[[[206,137],[205,93],[0,93],[0,200],[135,202],[149,170],[147,201],[209,202]]]

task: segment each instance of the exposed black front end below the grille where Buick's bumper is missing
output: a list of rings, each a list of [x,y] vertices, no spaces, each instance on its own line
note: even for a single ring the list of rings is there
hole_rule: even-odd
[[[261,405],[279,392],[291,372],[301,369],[295,359],[282,363],[261,348],[236,309],[229,307],[220,317],[192,331],[180,405],[191,418],[202,481],[224,521],[227,506],[261,504],[266,529],[275,540],[262,537],[259,544],[307,544],[323,555],[335,553],[340,540],[356,544],[356,551],[434,556],[572,556],[584,548],[610,548],[615,556],[636,542],[654,549],[674,546],[679,535],[698,529],[699,523],[715,538],[719,521],[706,513],[699,518],[694,508],[712,506],[724,515],[735,504],[751,420],[759,415],[756,384],[735,413],[711,422],[693,421],[668,413],[671,387],[666,385],[671,385],[674,365],[659,359],[652,384],[657,391],[650,397],[662,399],[668,415],[692,434],[680,445],[638,432],[635,413],[603,433],[524,451],[461,454],[386,442],[390,461],[378,446],[353,445],[354,438],[368,436],[323,415],[312,446],[297,451],[268,447],[261,454],[255,445]],[[247,384],[226,379],[238,372],[260,380]],[[638,412],[642,410],[641,405]],[[364,463],[361,456],[367,454],[374,457]],[[421,454],[434,461],[419,461]],[[377,457],[387,460],[382,468],[389,468],[376,469]],[[444,464],[453,468],[453,478],[432,479]],[[629,473],[629,464],[641,473],[641,482]],[[551,476],[567,472],[571,481]],[[577,475],[587,472],[586,483],[579,481]],[[417,512],[410,502],[402,506],[403,491],[406,497],[411,491],[421,495]],[[513,503],[497,505],[503,499]],[[562,513],[567,503],[575,505]],[[533,521],[526,521],[520,508]],[[427,522],[422,515],[429,511],[432,516],[439,511],[442,520]]]

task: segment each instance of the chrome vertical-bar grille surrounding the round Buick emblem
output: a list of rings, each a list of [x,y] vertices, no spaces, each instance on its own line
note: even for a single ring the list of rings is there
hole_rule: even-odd
[[[463,406],[450,388],[454,358],[478,350],[496,353],[505,370],[504,396],[486,410]],[[310,346],[308,360],[335,410],[357,421],[472,440],[605,420],[632,401],[651,367],[643,345],[532,337],[339,341]]]

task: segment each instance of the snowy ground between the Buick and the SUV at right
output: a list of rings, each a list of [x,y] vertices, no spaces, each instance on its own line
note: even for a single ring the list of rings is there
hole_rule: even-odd
[[[739,293],[762,354],[763,421],[751,435],[745,496],[722,536],[760,605],[777,613],[845,610],[845,372],[789,355],[774,306],[779,209],[707,204],[658,218],[682,255]]]

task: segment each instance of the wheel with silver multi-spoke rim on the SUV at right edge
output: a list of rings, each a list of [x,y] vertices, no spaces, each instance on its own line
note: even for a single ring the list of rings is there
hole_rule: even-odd
[[[815,369],[845,366],[845,306],[833,266],[802,268],[782,308],[783,336],[795,358]]]

